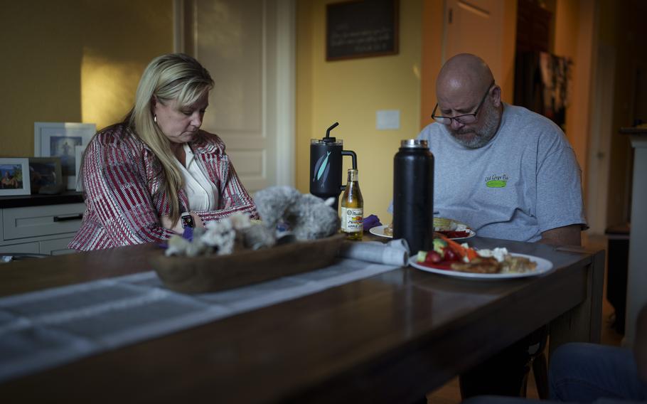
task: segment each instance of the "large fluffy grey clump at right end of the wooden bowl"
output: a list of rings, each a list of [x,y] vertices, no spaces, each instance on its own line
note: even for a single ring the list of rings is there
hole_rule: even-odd
[[[263,224],[269,229],[285,223],[296,240],[316,240],[339,230],[339,217],[328,201],[301,194],[291,186],[270,186],[258,191],[254,198]]]

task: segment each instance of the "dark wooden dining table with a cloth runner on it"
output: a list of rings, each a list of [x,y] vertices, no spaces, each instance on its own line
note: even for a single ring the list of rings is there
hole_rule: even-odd
[[[4,403],[410,403],[550,323],[550,350],[599,342],[604,252],[492,238],[542,276],[401,267],[0,384]],[[155,245],[0,265],[0,297],[151,270]]]

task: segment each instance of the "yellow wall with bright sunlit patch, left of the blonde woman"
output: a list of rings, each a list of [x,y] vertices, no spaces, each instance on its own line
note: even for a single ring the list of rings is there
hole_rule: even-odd
[[[0,156],[33,156],[34,122],[104,127],[173,50],[172,0],[9,1],[0,12]]]

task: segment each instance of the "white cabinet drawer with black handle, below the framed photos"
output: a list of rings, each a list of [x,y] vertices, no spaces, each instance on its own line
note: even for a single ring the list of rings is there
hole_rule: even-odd
[[[74,233],[80,228],[84,211],[85,203],[4,209],[4,240]]]

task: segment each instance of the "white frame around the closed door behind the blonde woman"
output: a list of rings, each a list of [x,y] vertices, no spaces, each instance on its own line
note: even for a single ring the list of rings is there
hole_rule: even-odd
[[[296,122],[296,0],[267,0],[274,3],[276,14],[274,21],[265,21],[268,28],[274,29],[275,48],[266,52],[267,63],[272,63],[274,97],[268,102],[274,103],[274,117],[264,117],[269,125],[267,132],[274,133],[276,161],[274,167],[276,178],[270,185],[295,184],[295,122]],[[185,0],[173,0],[173,51],[183,52],[185,31]],[[267,108],[263,108],[267,110]]]

